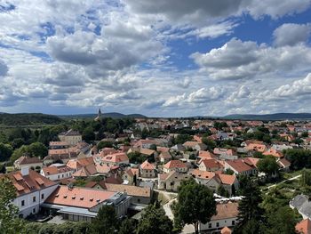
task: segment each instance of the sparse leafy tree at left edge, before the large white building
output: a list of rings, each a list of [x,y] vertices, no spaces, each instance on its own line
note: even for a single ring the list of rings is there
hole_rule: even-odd
[[[0,178],[0,230],[2,233],[14,234],[21,230],[21,222],[16,218],[19,208],[12,204],[16,190],[10,179]]]

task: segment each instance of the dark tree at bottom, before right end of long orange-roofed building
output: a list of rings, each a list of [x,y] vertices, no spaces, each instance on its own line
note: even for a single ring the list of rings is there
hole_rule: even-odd
[[[99,213],[92,220],[92,234],[111,234],[116,231],[117,217],[114,206],[101,206]]]

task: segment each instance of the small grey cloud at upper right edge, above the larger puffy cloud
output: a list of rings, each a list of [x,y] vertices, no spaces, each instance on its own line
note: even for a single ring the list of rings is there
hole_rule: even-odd
[[[295,45],[307,42],[311,33],[311,24],[286,23],[276,28],[273,36],[275,45]]]

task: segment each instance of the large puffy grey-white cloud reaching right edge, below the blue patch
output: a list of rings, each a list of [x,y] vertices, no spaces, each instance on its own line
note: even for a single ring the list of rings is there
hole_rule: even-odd
[[[236,80],[306,69],[311,62],[310,52],[304,44],[275,48],[233,38],[220,48],[206,53],[195,52],[190,58],[211,79]]]

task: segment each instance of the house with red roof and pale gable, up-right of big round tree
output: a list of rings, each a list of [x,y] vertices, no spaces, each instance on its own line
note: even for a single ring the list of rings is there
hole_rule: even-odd
[[[251,160],[245,159],[227,160],[225,162],[225,170],[230,169],[235,174],[255,175],[258,171]]]

